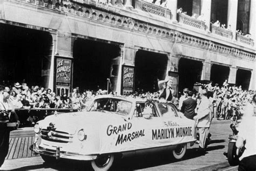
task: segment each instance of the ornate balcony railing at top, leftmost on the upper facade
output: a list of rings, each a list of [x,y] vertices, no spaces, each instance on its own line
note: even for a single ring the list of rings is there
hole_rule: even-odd
[[[171,19],[171,11],[161,6],[145,2],[143,0],[136,1],[136,9],[153,13],[154,15]]]

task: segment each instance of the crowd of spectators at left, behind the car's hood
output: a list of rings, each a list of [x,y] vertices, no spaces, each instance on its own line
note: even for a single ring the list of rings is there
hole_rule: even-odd
[[[56,96],[49,88],[31,86],[23,81],[13,85],[3,84],[10,88],[10,101],[16,109],[82,109],[86,108],[95,96],[107,94],[106,90],[98,91],[74,88],[70,95]],[[112,92],[111,92],[112,93]]]

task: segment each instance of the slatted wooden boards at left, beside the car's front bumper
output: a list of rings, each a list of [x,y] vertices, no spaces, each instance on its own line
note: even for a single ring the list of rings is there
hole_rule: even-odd
[[[34,140],[34,136],[21,136],[10,138],[9,152],[5,159],[20,159],[38,156],[33,154],[32,151],[29,149],[29,147],[33,144]]]

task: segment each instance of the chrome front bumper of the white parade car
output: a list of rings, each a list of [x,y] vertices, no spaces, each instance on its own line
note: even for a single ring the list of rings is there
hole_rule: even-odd
[[[73,160],[95,160],[97,158],[97,155],[81,155],[78,153],[63,152],[60,151],[59,147],[56,147],[56,151],[53,151],[52,149],[47,149],[40,146],[37,147],[36,143],[33,144],[33,153],[52,156],[57,160],[60,158]]]

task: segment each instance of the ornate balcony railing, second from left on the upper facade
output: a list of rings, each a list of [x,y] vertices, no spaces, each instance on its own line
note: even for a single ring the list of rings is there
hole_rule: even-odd
[[[179,23],[205,30],[205,22],[182,13],[179,13],[178,16]]]

